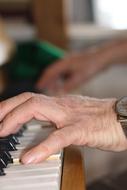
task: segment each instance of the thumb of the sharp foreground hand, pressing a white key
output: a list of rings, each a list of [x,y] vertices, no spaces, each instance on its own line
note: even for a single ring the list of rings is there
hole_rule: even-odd
[[[74,127],[66,127],[52,133],[45,141],[22,156],[21,161],[24,164],[39,163],[50,155],[57,153],[62,148],[73,144],[77,134]]]

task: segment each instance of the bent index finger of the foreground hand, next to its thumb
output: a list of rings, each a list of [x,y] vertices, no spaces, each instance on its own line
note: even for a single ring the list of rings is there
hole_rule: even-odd
[[[37,105],[35,106],[35,104],[31,102],[31,99],[29,99],[13,109],[0,124],[0,136],[2,137],[15,133],[19,127],[32,118],[40,119],[38,118],[38,114],[36,114],[36,108]],[[41,115],[41,119],[47,121],[47,118],[43,115]]]

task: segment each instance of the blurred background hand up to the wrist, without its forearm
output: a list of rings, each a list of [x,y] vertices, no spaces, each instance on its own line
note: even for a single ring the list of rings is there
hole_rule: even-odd
[[[36,87],[48,94],[69,92],[105,66],[106,56],[93,49],[77,53],[51,65],[37,81]]]

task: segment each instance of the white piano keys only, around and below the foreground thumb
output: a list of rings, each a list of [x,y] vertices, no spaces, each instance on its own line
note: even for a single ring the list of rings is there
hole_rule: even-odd
[[[12,157],[19,159],[23,149],[30,144],[35,138],[35,133],[39,135],[40,140],[46,136],[46,132],[49,133],[52,129],[41,129],[40,126],[30,126],[29,129],[24,132],[24,136],[19,138],[21,142],[17,145],[17,151],[11,152]],[[40,133],[41,132],[41,133]],[[36,139],[36,138],[35,138]],[[34,143],[33,143],[34,145]],[[54,159],[44,161],[37,165],[13,165],[10,164],[5,169],[6,176],[0,178],[0,189],[1,190],[59,190],[60,179],[61,179],[61,160],[62,153],[59,152],[54,156]],[[18,163],[19,164],[19,163]]]

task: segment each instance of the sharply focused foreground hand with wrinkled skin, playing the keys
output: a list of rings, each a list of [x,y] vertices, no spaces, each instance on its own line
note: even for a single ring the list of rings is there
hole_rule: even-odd
[[[38,163],[70,144],[102,150],[127,149],[127,140],[113,106],[115,99],[83,96],[47,97],[23,93],[0,104],[0,136],[16,133],[35,118],[55,124],[56,131],[25,153],[23,163]]]

